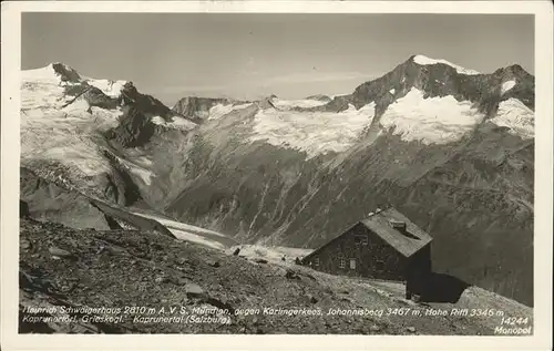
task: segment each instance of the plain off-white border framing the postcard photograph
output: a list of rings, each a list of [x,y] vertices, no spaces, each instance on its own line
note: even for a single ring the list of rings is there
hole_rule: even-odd
[[[550,350],[552,348],[553,9],[550,1],[17,1],[2,2],[1,347],[4,350]],[[533,337],[19,335],[21,12],[534,13],[535,255]]]

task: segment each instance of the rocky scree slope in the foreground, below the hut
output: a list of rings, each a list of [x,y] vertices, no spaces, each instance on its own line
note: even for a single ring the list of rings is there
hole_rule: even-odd
[[[20,226],[22,333],[475,335],[493,334],[506,317],[532,323],[532,309],[478,288],[456,306],[419,304],[403,300],[398,283],[227,255],[156,233],[33,219]],[[453,308],[488,312],[453,316]]]

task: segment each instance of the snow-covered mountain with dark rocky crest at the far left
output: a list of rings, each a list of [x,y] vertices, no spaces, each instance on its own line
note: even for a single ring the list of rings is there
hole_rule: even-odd
[[[21,164],[62,172],[99,198],[125,202],[125,175],[151,179],[148,159],[114,156],[113,145],[141,146],[196,126],[129,81],[88,78],[59,62],[21,75]]]

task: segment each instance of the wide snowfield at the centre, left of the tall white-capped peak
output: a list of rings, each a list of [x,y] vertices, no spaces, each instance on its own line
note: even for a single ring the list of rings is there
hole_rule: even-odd
[[[329,152],[340,153],[371,124],[375,106],[373,102],[360,110],[349,105],[340,113],[260,110],[254,118],[250,142],[265,141],[306,152],[308,158]]]

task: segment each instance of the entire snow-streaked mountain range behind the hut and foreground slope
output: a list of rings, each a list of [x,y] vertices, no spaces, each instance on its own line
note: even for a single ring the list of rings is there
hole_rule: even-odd
[[[517,64],[412,55],[346,95],[171,109],[62,63],[21,84],[31,217],[106,229],[142,211],[316,248],[393,205],[433,237],[433,268],[533,304],[534,76]]]

